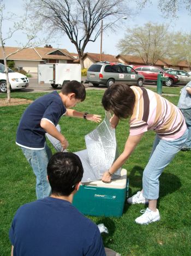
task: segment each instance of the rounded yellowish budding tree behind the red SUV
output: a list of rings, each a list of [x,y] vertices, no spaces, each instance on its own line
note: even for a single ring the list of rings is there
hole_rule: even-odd
[[[168,27],[151,23],[127,29],[124,39],[118,43],[122,54],[140,56],[146,65],[154,65],[164,58],[169,53],[169,47]]]

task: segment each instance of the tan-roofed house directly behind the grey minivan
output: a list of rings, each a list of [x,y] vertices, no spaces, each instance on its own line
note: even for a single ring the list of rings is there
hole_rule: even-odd
[[[100,53],[85,53],[83,55],[84,67],[88,69],[88,67],[91,66],[92,64],[99,62],[101,58],[102,58],[102,61],[120,62],[115,58],[114,55],[111,55],[111,54],[102,54],[102,56],[100,56]],[[74,63],[79,63],[79,58],[74,60]]]

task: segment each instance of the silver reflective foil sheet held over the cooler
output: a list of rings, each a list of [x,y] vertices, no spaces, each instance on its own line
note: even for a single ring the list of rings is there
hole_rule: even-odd
[[[85,135],[86,149],[74,152],[80,157],[83,166],[82,183],[88,183],[102,179],[103,173],[108,170],[118,157],[115,129],[110,126],[111,114],[106,112],[104,121],[91,133]],[[57,129],[61,131],[59,125]],[[62,146],[58,140],[46,134],[57,151],[62,151]],[[118,178],[121,168],[112,176]]]

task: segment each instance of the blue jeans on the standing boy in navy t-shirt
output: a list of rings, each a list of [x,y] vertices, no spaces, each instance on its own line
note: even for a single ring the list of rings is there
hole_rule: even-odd
[[[33,172],[37,178],[37,199],[49,196],[51,187],[47,181],[47,163],[52,156],[50,148],[45,145],[45,149],[40,150],[26,149],[25,147],[21,147],[21,149],[30,166],[33,168]]]

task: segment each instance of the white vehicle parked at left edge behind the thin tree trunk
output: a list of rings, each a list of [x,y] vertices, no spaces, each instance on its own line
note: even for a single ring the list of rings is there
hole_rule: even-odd
[[[2,93],[7,93],[7,81],[5,75],[5,66],[0,63],[0,91]],[[11,69],[8,69],[10,89],[22,89],[28,86],[28,78],[21,73],[14,72]]]

